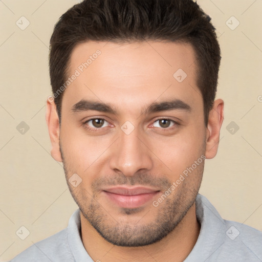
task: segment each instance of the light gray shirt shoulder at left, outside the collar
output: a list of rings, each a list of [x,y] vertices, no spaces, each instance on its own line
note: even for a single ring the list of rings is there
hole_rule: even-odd
[[[18,254],[10,262],[74,261],[67,241],[67,228],[43,239]]]

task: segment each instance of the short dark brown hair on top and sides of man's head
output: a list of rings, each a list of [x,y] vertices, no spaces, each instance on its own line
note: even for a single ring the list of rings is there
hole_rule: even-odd
[[[57,21],[50,39],[49,68],[55,94],[68,77],[70,56],[80,42],[164,40],[190,43],[197,85],[208,114],[215,99],[221,50],[211,18],[192,0],[84,0]],[[59,122],[62,95],[54,98]]]

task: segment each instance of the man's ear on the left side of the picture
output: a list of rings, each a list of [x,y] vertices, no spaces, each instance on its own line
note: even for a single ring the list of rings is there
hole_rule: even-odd
[[[56,105],[53,97],[47,99],[46,121],[48,132],[52,144],[51,156],[58,162],[62,162],[59,148],[59,118],[56,112]]]

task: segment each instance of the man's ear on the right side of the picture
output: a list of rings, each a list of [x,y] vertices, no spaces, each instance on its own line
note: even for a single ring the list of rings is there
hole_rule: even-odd
[[[209,112],[209,119],[206,130],[206,158],[212,159],[217,153],[220,140],[220,129],[224,120],[224,101],[217,99]]]

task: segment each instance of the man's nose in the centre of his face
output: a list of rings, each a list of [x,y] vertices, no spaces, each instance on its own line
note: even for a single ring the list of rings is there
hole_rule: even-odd
[[[138,128],[135,128],[130,134],[120,129],[119,136],[114,143],[110,168],[127,177],[134,176],[138,171],[150,170],[153,166],[152,152],[147,142],[148,139],[139,133]]]

